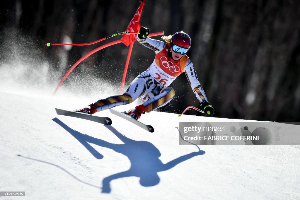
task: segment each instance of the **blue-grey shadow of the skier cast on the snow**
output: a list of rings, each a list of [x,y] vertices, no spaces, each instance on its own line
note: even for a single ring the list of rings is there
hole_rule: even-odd
[[[131,176],[139,177],[140,184],[142,186],[155,186],[160,181],[158,172],[169,170],[177,164],[182,163],[192,157],[205,154],[205,151],[199,150],[196,152],[191,152],[190,154],[180,156],[166,164],[163,164],[159,159],[159,157],[161,156],[161,152],[152,143],[147,141],[136,141],[133,139],[129,139],[122,135],[118,130],[116,130],[112,126],[105,127],[112,133],[114,133],[122,142],[124,142],[124,144],[113,144],[110,142],[106,142],[102,139],[97,139],[88,135],[84,135],[76,130],[71,129],[57,118],[54,118],[52,120],[59,124],[61,127],[63,127],[65,130],[67,130],[97,159],[102,159],[103,155],[98,153],[88,143],[110,148],[128,157],[128,159],[131,162],[130,169],[125,172],[119,172],[104,178],[102,181],[102,193],[110,193],[111,181],[118,178],[125,178]]]

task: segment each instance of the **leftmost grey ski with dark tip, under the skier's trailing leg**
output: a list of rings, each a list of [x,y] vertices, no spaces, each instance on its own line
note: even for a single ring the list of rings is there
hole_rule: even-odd
[[[65,115],[65,116],[70,116],[70,117],[86,119],[86,120],[95,121],[95,122],[105,124],[105,125],[112,124],[112,120],[108,117],[99,117],[99,116],[95,116],[95,115],[85,114],[82,112],[62,110],[62,109],[58,109],[58,108],[55,108],[55,111],[56,111],[57,115]]]

